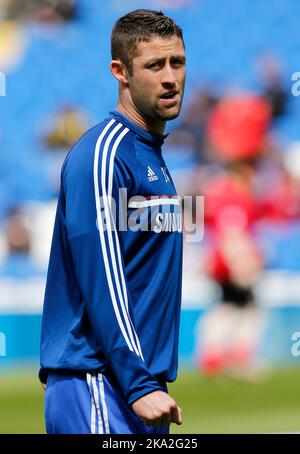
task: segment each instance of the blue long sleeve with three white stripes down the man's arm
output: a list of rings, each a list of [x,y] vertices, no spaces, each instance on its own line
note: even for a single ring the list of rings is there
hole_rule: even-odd
[[[68,244],[83,304],[109,369],[132,404],[162,388],[143,358],[126,281],[119,189],[130,189],[132,176],[116,156],[127,132],[119,129],[105,143],[98,139],[93,168],[67,165],[62,184]]]

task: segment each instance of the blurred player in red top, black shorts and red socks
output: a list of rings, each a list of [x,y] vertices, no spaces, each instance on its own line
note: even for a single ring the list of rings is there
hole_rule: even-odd
[[[252,229],[259,216],[256,175],[266,146],[270,109],[252,95],[224,99],[212,110],[207,134],[219,171],[200,184],[209,242],[206,272],[221,288],[221,304],[201,322],[199,368],[250,377],[256,367],[261,314],[253,286],[263,268]]]

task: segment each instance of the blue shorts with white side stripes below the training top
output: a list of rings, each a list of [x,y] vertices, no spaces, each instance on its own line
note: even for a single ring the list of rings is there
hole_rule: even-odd
[[[169,427],[146,426],[128,406],[116,383],[100,374],[49,374],[45,420],[48,434],[169,433]]]

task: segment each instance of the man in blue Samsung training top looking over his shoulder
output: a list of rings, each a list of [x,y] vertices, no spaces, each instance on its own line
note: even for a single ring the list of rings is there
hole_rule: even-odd
[[[181,209],[161,154],[183,98],[182,31],[137,10],[111,42],[117,110],[62,169],[41,337],[48,433],[158,434],[182,423],[166,386],[178,365]]]

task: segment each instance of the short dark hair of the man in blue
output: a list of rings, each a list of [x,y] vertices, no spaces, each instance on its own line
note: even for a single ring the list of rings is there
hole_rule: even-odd
[[[121,60],[132,73],[132,59],[138,43],[172,36],[178,36],[184,42],[182,29],[173,19],[162,11],[137,9],[115,23],[111,34],[112,59]]]

